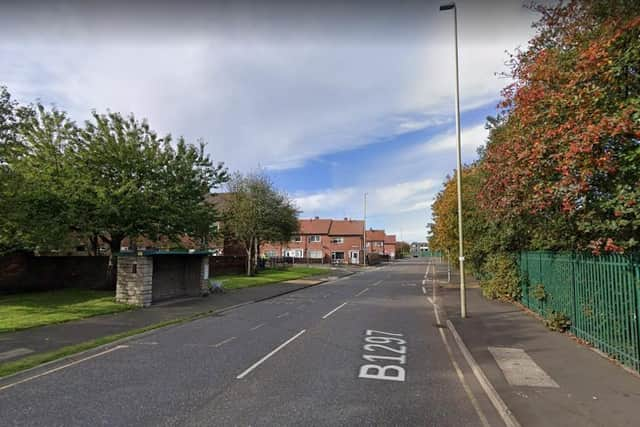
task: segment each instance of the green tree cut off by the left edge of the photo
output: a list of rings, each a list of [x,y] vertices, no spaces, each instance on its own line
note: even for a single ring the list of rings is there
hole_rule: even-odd
[[[74,230],[68,195],[77,176],[71,160],[77,127],[41,104],[3,104],[0,249],[61,248]],[[7,105],[13,107],[8,119]]]

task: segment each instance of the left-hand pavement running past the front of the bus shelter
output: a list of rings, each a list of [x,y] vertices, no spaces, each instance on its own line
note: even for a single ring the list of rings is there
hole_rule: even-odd
[[[353,273],[333,270],[328,277],[307,277],[304,280],[232,290],[225,294],[213,294],[208,297],[177,299],[143,309],[3,333],[0,334],[0,364],[161,322],[274,298],[350,274]]]

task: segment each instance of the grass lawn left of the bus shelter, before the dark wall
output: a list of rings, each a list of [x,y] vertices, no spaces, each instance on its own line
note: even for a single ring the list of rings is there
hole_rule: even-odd
[[[0,297],[0,333],[131,309],[113,291],[62,289]]]

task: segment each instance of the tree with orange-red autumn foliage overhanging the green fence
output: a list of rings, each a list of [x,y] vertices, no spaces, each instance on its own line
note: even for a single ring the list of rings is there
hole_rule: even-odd
[[[640,4],[539,6],[513,58],[506,120],[483,161],[483,208],[544,227],[540,245],[640,247]]]

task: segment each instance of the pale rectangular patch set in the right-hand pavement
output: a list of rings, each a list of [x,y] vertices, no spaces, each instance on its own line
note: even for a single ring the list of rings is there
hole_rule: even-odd
[[[521,348],[489,347],[507,382],[515,386],[559,388],[545,371]]]

